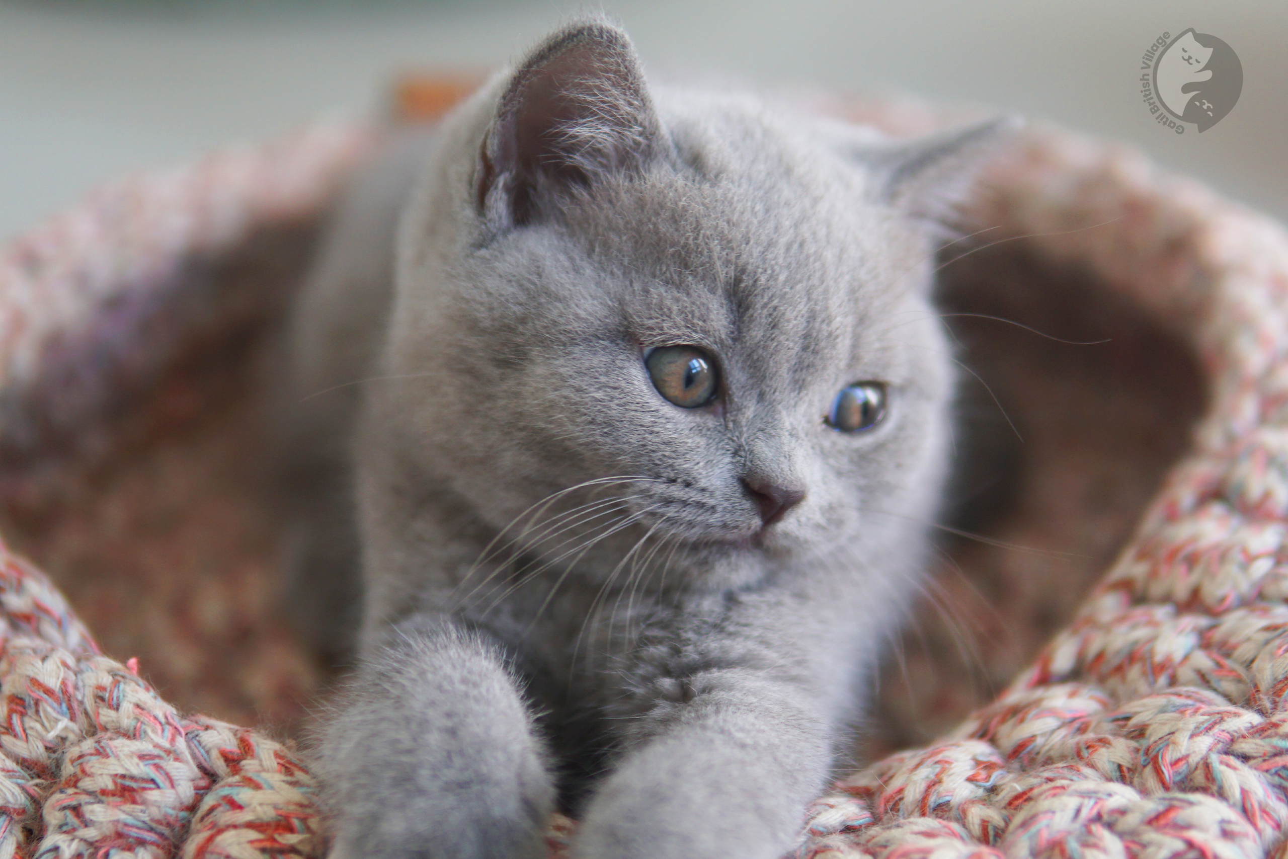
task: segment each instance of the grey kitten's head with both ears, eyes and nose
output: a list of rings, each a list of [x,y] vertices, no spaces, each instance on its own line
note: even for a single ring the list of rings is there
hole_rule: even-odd
[[[999,129],[894,146],[650,90],[623,33],[568,27],[444,127],[380,421],[416,479],[586,573],[881,564],[948,439],[933,222]]]

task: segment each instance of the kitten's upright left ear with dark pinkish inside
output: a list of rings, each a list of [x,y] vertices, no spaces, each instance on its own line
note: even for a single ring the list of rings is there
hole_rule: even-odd
[[[479,212],[497,227],[531,223],[562,193],[641,170],[659,139],[626,33],[572,24],[533,50],[501,95],[475,173]]]

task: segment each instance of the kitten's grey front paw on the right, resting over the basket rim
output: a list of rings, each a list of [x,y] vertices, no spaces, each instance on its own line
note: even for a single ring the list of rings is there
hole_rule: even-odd
[[[831,762],[809,697],[746,670],[698,675],[688,693],[644,717],[653,733],[591,800],[576,859],[778,859],[791,849]]]

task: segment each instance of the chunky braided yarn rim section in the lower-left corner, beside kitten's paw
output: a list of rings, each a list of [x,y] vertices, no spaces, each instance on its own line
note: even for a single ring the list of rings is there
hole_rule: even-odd
[[[0,858],[321,854],[313,779],[285,747],[182,717],[3,546],[0,607]]]

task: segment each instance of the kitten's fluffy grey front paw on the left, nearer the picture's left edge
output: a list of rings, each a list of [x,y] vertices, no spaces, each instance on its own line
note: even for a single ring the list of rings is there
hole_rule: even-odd
[[[322,737],[332,859],[537,859],[554,807],[545,750],[496,648],[394,627]]]

